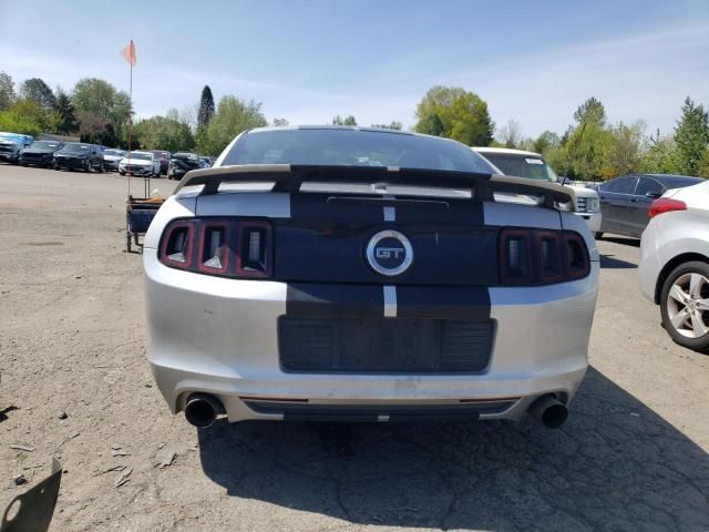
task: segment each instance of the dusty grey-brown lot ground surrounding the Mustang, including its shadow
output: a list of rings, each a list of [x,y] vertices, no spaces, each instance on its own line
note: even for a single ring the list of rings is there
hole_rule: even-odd
[[[56,456],[53,531],[709,530],[709,357],[675,346],[641,298],[637,242],[599,244],[592,368],[562,430],[197,431],[169,415],[145,361],[125,180],[0,165],[0,185],[2,508]],[[29,484],[14,485],[19,473]]]

